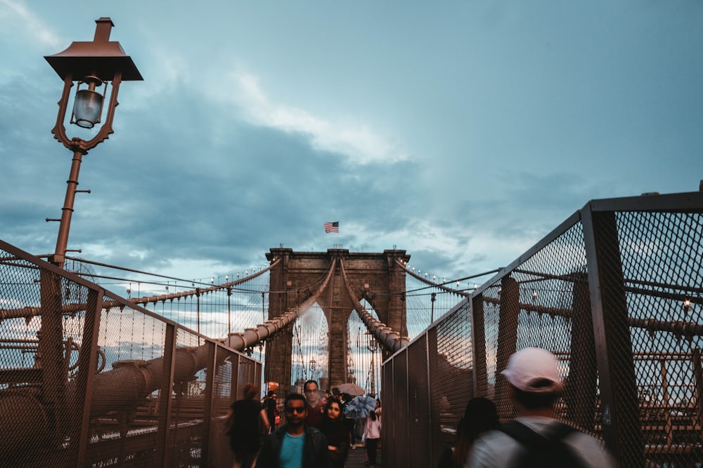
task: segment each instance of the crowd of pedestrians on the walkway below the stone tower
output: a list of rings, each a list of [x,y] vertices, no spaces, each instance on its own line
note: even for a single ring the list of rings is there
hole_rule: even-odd
[[[232,403],[228,413],[227,434],[235,468],[344,468],[350,448],[355,448],[354,431],[358,427],[366,446],[366,464],[375,468],[380,401],[369,396],[375,408],[347,417],[345,406],[352,396],[322,394],[318,383],[308,380],[303,394],[285,397],[280,414],[273,390],[262,403],[257,394],[254,385],[247,385],[245,398]]]

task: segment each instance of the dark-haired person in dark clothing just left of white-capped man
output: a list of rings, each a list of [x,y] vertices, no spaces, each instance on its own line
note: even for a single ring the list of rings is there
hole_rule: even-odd
[[[470,399],[456,427],[454,445],[442,452],[437,468],[462,468],[476,439],[494,429],[498,429],[496,404],[482,396]]]

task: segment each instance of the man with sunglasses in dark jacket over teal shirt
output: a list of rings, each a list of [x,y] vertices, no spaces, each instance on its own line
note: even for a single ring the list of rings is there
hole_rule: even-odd
[[[327,439],[318,429],[309,427],[307,401],[301,394],[285,397],[285,424],[264,440],[257,468],[327,468]]]

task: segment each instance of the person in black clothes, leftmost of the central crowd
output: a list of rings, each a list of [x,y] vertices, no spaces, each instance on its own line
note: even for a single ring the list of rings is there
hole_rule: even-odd
[[[259,434],[269,432],[269,420],[259,404],[259,389],[247,384],[244,399],[231,404],[227,415],[229,447],[234,454],[233,468],[251,468],[261,447]],[[261,424],[261,425],[259,425]]]

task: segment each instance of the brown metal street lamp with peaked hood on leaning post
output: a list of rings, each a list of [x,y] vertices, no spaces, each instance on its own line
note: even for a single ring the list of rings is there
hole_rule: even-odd
[[[71,172],[66,181],[66,197],[63,203],[56,239],[56,250],[51,257],[51,262],[63,267],[68,244],[68,232],[73,214],[73,203],[75,194],[79,192],[78,173],[84,154],[88,154],[90,149],[105,141],[112,130],[112,117],[115,116],[117,107],[117,91],[120,83],[124,81],[141,81],[139,70],[128,55],[124,54],[119,42],[110,41],[110,29],[114,26],[110,18],[100,18],[96,20],[95,36],[91,42],[74,42],[65,51],[56,55],[44,57],[49,65],[56,70],[58,76],[63,79],[63,94],[58,102],[58,116],[56,126],[51,133],[54,138],[63,143],[65,147],[73,152]],[[98,133],[91,140],[82,138],[68,138],[64,122],[68,109],[70,90],[74,81],[77,83],[76,95],[69,123],[82,128],[93,128],[100,124]],[[104,88],[103,88],[104,86]],[[103,122],[103,108],[105,107],[105,97],[110,91],[110,100],[105,112]],[[102,88],[102,93],[98,91]]]

